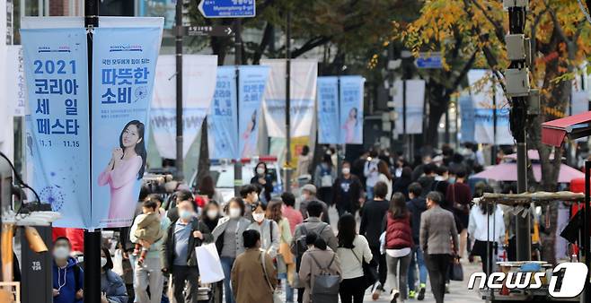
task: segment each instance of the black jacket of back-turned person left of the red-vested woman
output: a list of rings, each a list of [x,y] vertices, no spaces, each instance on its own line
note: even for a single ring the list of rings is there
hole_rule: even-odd
[[[372,200],[363,206],[359,234],[367,238],[369,247],[380,247],[380,235],[384,231],[384,216],[389,206],[386,200]]]

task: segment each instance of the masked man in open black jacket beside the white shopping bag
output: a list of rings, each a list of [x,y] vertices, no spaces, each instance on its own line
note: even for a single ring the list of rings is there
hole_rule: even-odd
[[[163,273],[172,273],[173,302],[197,303],[198,266],[195,247],[213,241],[207,225],[195,217],[193,203],[183,200],[177,205],[179,220],[172,222],[163,244]],[[183,296],[185,283],[189,283]]]

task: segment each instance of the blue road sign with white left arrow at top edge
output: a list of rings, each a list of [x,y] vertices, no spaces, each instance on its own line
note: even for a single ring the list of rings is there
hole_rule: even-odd
[[[206,18],[247,18],[256,15],[255,2],[255,0],[202,0],[198,9]]]

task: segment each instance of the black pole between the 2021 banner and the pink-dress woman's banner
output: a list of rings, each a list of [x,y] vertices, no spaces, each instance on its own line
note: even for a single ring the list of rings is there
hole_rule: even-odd
[[[88,125],[90,134],[90,159],[93,159],[93,28],[99,26],[99,1],[84,0],[84,27],[88,29]],[[91,167],[91,175],[93,167]],[[91,195],[93,186],[91,185]],[[101,230],[84,230],[84,302],[101,302]]]

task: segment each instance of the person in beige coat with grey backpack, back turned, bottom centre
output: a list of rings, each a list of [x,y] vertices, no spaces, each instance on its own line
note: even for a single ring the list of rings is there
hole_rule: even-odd
[[[339,256],[313,232],[308,233],[305,240],[310,244],[302,256],[299,272],[300,281],[305,285],[302,302],[338,303],[342,281]]]

